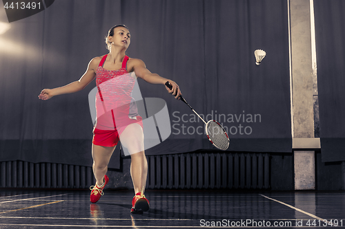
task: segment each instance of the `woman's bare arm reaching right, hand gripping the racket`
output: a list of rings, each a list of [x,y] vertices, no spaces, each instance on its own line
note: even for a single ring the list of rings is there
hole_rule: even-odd
[[[159,74],[155,74],[155,73],[151,73],[147,68],[146,65],[144,63],[144,61],[141,61],[139,59],[132,59],[133,63],[134,63],[134,72],[135,75],[137,75],[137,77],[142,78],[143,80],[145,80],[148,83],[152,83],[152,84],[162,84],[165,85],[166,81],[169,81],[170,85],[172,85],[172,89],[169,89],[168,87],[166,87],[166,90],[172,94],[173,96],[175,96],[175,98],[179,99],[179,96],[181,96],[181,91],[179,89],[179,85],[177,85],[177,83],[175,83],[172,80],[169,80],[167,78],[161,77],[159,76]]]

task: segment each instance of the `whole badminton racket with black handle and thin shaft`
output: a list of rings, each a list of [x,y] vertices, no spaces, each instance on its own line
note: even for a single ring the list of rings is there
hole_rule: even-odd
[[[172,85],[170,85],[169,81],[166,82],[166,87],[168,87],[170,90],[172,89]],[[188,105],[188,107],[192,109],[192,111],[206,124],[205,130],[208,140],[210,140],[210,142],[218,149],[224,151],[228,149],[230,139],[225,129],[221,127],[221,124],[219,124],[219,122],[215,120],[209,120],[208,122],[205,122],[205,120],[199,116],[197,111],[195,111],[193,107],[190,107],[184,97],[179,96],[179,98],[182,102],[186,103],[186,105]]]

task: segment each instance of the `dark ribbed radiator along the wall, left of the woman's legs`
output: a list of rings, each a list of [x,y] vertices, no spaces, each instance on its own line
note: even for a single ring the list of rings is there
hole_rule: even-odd
[[[89,188],[95,184],[91,167],[22,161],[0,163],[2,188]]]

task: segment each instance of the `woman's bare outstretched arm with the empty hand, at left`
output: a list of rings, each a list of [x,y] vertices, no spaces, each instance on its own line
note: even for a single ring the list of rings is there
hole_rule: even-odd
[[[70,94],[77,91],[81,91],[96,77],[96,69],[98,67],[99,61],[99,57],[93,58],[90,61],[90,63],[88,63],[88,69],[86,69],[86,72],[83,74],[83,76],[81,76],[79,80],[74,81],[63,87],[56,87],[54,89],[43,89],[41,91],[41,94],[39,94],[39,99],[48,100],[52,98],[52,96]]]

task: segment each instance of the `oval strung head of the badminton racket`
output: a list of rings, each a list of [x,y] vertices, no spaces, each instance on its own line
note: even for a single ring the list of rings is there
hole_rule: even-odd
[[[226,150],[229,146],[229,138],[224,131],[223,127],[221,127],[218,122],[208,122],[206,127],[208,137],[210,138],[211,142],[215,144],[219,149]]]

